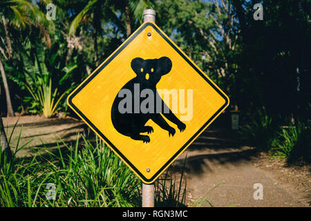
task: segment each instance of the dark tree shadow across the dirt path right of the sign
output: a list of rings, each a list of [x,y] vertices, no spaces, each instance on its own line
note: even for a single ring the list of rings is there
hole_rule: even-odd
[[[258,151],[245,146],[238,133],[223,128],[207,129],[173,163],[174,170],[181,170],[187,156],[185,171],[196,175],[213,173],[215,166],[238,166],[249,162]]]

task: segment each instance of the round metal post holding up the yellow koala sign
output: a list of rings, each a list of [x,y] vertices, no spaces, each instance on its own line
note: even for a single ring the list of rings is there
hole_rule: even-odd
[[[156,11],[147,9],[143,12],[144,22],[152,21],[156,23]],[[142,207],[154,207],[154,184],[142,183]]]

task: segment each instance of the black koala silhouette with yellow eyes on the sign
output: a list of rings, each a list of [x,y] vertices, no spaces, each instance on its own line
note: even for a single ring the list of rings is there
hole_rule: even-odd
[[[184,131],[186,128],[186,124],[182,123],[169,109],[169,107],[163,102],[162,98],[158,94],[156,89],[156,84],[160,81],[162,75],[166,75],[171,71],[172,62],[168,57],[161,57],[160,59],[142,59],[140,57],[136,57],[131,61],[131,68],[137,75],[130,81],[128,81],[120,90],[130,90],[131,94],[135,94],[134,88],[139,85],[140,90],[149,89],[153,92],[153,104],[154,107],[152,111],[148,111],[148,113],[135,113],[135,104],[137,108],[137,101],[139,101],[139,105],[142,103],[144,99],[140,96],[136,96],[134,99],[131,99],[131,111],[126,111],[126,113],[120,113],[118,106],[120,101],[122,101],[122,97],[118,95],[115,97],[113,102],[113,106],[111,108],[111,121],[113,122],[113,126],[117,130],[117,132],[122,135],[126,135],[131,137],[133,140],[142,140],[143,142],[150,142],[150,138],[148,135],[140,135],[140,133],[152,133],[153,128],[151,126],[145,126],[149,119],[152,119],[153,122],[158,124],[162,129],[169,132],[169,136],[175,135],[176,131],[173,127],[169,126],[162,115],[169,119],[169,121],[173,122],[178,126],[180,132]],[[134,100],[136,99],[136,103],[134,104]],[[159,104],[160,101],[160,104]],[[158,103],[157,103],[158,102]]]

